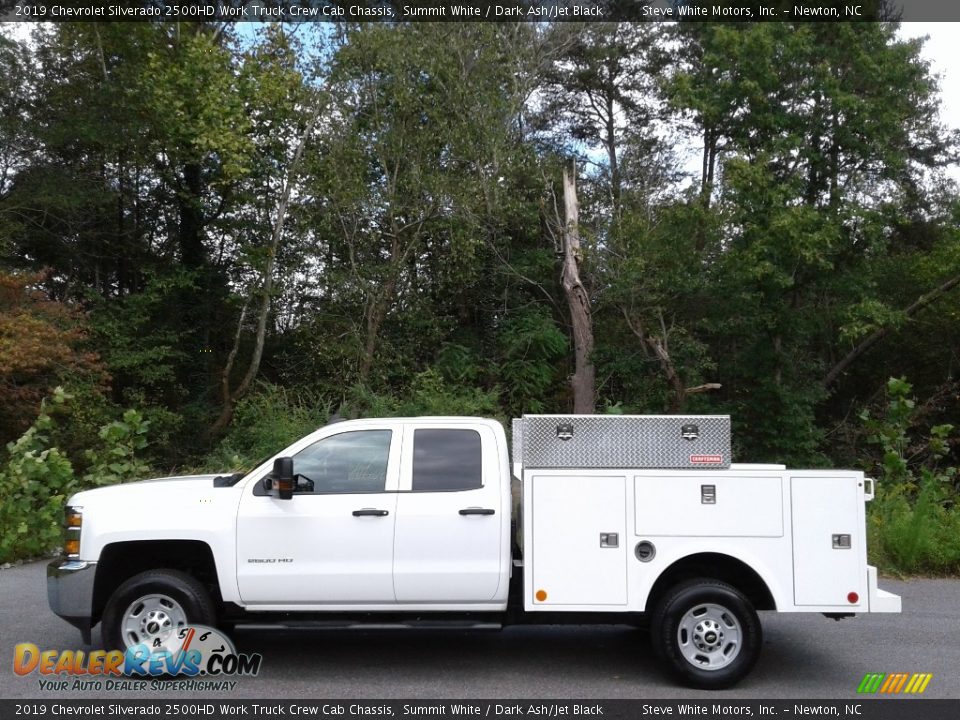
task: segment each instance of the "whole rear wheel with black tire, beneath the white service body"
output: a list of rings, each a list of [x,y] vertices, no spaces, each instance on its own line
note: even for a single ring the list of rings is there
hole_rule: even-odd
[[[657,656],[686,685],[728,688],[760,656],[763,630],[750,601],[719,580],[693,580],[667,591],[651,619]]]

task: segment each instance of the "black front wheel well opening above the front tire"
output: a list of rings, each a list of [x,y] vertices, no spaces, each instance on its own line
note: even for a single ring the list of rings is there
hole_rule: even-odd
[[[132,540],[107,545],[97,562],[93,623],[121,584],[146,570],[180,570],[199,580],[220,607],[220,583],[210,546],[200,540]]]

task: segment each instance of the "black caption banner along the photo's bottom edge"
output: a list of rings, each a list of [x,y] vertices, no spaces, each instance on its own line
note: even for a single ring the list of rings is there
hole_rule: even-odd
[[[924,700],[0,700],[0,718],[809,718],[956,720],[960,699]]]

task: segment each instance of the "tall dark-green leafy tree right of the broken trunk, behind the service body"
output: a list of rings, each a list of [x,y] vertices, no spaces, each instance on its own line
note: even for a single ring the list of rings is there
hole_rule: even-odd
[[[889,203],[916,207],[947,157],[935,86],[889,25],[696,32],[700,65],[673,78],[673,98],[724,142],[716,205],[702,203],[726,227],[710,323],[719,379],[758,452],[812,457],[837,328],[876,309]]]

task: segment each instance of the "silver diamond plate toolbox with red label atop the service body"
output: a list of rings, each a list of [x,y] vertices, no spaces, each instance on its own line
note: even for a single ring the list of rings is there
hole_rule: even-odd
[[[726,468],[729,415],[524,415],[513,421],[525,468]]]

